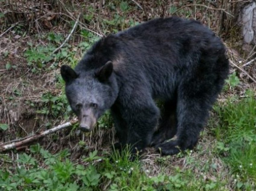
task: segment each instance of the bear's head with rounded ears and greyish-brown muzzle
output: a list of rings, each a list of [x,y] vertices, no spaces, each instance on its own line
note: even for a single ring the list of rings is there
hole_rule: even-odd
[[[89,71],[76,72],[68,65],[61,66],[61,76],[66,82],[66,96],[80,121],[81,130],[91,131],[97,119],[117,99],[117,81],[113,73],[111,61]]]

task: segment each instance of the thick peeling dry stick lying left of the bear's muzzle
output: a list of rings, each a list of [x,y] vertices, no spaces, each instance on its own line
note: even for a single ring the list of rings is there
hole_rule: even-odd
[[[62,125],[58,125],[52,129],[48,129],[46,131],[43,131],[41,133],[38,134],[34,134],[34,135],[30,135],[28,136],[26,139],[24,139],[23,141],[18,141],[18,142],[13,142],[11,144],[2,144],[0,145],[0,151],[5,151],[5,150],[10,150],[10,149],[14,149],[16,148],[17,150],[21,147],[24,147],[25,145],[38,140],[39,138],[44,137],[45,135],[49,135],[52,134],[56,131],[59,131],[61,129],[65,129],[67,127],[72,126],[73,124],[75,124],[77,122],[77,120],[72,120],[70,122],[64,123]]]

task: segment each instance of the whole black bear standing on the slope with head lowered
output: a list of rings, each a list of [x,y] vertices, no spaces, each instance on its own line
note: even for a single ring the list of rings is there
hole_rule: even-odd
[[[178,17],[108,35],[74,70],[61,66],[81,129],[91,130],[111,109],[117,145],[130,144],[133,153],[153,145],[165,155],[195,146],[228,71],[221,39]],[[162,114],[156,99],[164,102]]]

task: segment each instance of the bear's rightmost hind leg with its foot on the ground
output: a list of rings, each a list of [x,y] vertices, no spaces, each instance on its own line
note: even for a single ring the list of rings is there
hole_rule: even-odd
[[[191,81],[196,81],[194,84]],[[192,149],[208,117],[211,105],[217,98],[219,89],[211,80],[189,80],[180,84],[177,95],[177,137],[155,147],[163,155],[173,155]]]

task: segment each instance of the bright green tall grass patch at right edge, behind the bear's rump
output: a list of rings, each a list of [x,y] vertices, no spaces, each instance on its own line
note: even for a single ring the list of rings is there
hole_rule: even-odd
[[[256,182],[256,100],[252,94],[248,90],[247,97],[229,98],[215,108],[220,117],[216,137],[228,147],[223,161],[243,189],[255,188]]]

